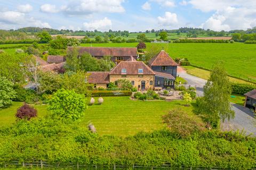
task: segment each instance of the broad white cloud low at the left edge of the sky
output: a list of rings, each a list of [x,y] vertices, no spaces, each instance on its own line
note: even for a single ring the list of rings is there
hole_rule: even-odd
[[[17,11],[0,12],[0,16],[0,29],[13,29],[21,27],[51,28],[49,23],[36,20],[25,13]]]

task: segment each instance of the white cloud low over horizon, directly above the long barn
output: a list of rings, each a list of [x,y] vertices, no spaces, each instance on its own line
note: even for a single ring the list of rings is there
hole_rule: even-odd
[[[94,20],[91,22],[84,22],[83,28],[85,30],[99,30],[99,31],[108,31],[112,28],[112,22],[108,18],[104,18],[102,20]]]

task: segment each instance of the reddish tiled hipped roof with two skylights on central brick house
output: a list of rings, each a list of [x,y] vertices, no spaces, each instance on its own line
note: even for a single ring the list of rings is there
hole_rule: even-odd
[[[116,67],[110,71],[109,74],[124,74],[122,73],[122,69],[126,69],[126,74],[145,74],[145,75],[154,75],[154,71],[150,69],[149,66],[147,66],[143,62],[138,61],[123,61],[116,65]],[[143,69],[143,73],[139,73],[138,69]]]

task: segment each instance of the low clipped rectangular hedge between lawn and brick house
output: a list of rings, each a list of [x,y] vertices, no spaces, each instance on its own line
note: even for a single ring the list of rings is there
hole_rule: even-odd
[[[92,91],[92,96],[100,97],[100,96],[131,96],[132,92],[129,90],[94,90]]]

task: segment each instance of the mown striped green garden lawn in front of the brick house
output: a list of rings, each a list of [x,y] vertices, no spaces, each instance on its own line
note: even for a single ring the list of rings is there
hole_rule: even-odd
[[[139,101],[125,97],[103,97],[102,105],[89,106],[85,111],[79,125],[87,127],[91,121],[98,133],[127,136],[140,131],[153,131],[162,129],[162,115],[170,109],[181,107],[193,114],[193,107],[183,106],[183,101]],[[97,98],[95,98],[97,101]],[[17,108],[21,102],[14,102],[13,106],[0,111],[0,126],[11,125],[15,121]],[[46,105],[34,106],[39,116],[47,114]]]

